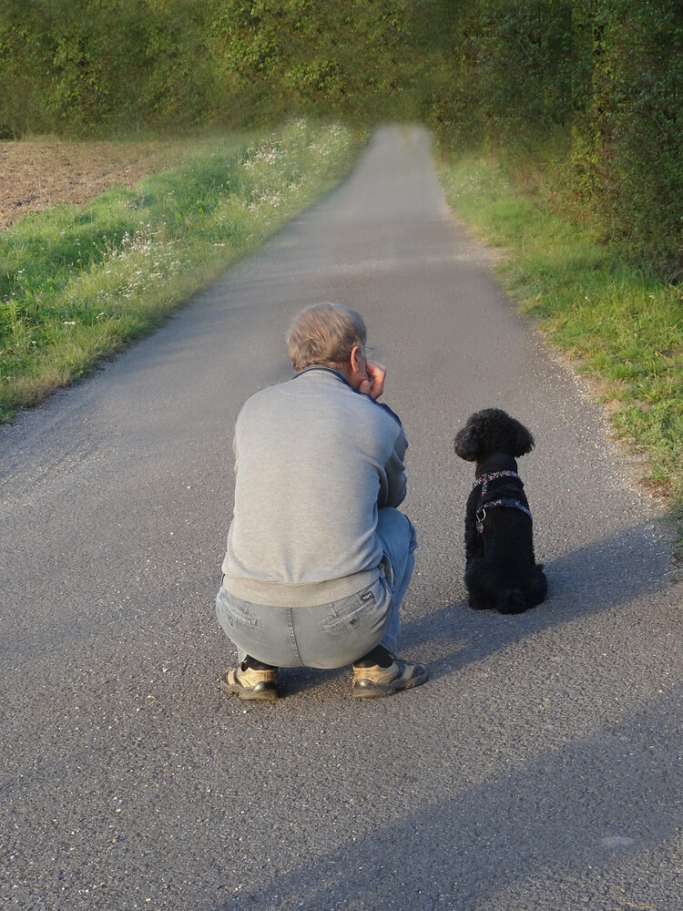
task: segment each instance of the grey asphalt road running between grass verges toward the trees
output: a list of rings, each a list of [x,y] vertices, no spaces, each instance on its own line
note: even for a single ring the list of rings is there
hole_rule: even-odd
[[[661,509],[449,214],[418,129],[385,128],[314,210],[152,338],[0,431],[5,906],[75,911],[679,911],[681,589]],[[358,704],[216,687],[232,425],[290,375],[303,305],[364,314],[410,441],[403,650],[431,680]],[[497,405],[550,580],[464,603],[473,467]]]

